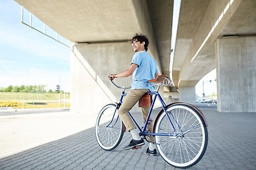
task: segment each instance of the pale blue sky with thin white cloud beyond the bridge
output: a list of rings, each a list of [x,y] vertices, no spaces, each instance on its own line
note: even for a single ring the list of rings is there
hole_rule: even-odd
[[[29,23],[26,11],[23,21]],[[36,18],[33,23],[43,28]],[[203,81],[206,96],[217,93],[216,82],[208,82],[215,78],[214,69],[198,82],[196,95],[202,97]],[[16,1],[1,0],[0,87],[45,85],[54,91],[57,84],[70,92],[70,48],[21,23],[21,6]]]

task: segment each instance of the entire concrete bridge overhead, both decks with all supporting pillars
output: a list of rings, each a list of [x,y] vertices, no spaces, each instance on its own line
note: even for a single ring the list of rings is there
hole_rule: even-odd
[[[218,111],[256,111],[255,0],[181,0],[173,61],[173,0],[15,1],[75,42],[70,52],[75,112],[97,113],[118,101],[120,92],[107,74],[129,67],[134,33],[149,36],[159,71],[174,80],[175,86],[161,89],[167,103],[194,103],[196,84],[216,68]],[[131,80],[117,83],[129,86]]]

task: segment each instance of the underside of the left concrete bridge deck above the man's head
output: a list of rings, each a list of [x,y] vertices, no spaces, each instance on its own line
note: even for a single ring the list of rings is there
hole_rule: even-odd
[[[127,42],[144,33],[159,69],[169,75],[174,1],[16,1],[71,42]]]

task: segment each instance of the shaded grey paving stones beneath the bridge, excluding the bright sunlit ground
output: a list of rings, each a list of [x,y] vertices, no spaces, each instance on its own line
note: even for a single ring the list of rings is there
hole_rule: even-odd
[[[200,109],[209,123],[208,149],[203,159],[189,169],[256,169],[256,113],[219,113],[216,108]],[[157,109],[154,116],[156,113]],[[134,115],[137,120],[142,119],[140,113]],[[130,140],[131,135],[125,132],[119,147],[107,152],[97,145],[95,128],[87,128],[3,157],[0,169],[176,169],[160,156],[144,154],[147,145],[139,150],[122,151]]]

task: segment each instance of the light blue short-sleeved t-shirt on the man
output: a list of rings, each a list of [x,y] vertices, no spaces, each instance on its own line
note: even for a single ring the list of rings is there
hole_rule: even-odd
[[[132,63],[138,65],[132,74],[132,89],[149,89],[154,91],[154,86],[147,84],[150,79],[154,79],[154,74],[159,72],[154,58],[146,51],[136,52],[132,57]]]

